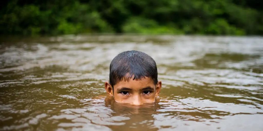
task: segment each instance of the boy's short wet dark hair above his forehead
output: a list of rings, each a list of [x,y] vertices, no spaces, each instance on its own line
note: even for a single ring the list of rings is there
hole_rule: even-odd
[[[124,51],[110,63],[110,85],[113,87],[121,80],[141,80],[150,78],[157,84],[156,63],[148,54],[140,51]]]

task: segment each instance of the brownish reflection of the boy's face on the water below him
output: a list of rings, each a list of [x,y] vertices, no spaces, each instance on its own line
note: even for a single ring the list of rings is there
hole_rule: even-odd
[[[159,101],[158,98],[156,101]],[[105,98],[105,106],[115,111],[114,115],[125,116],[129,120],[124,125],[110,126],[113,130],[127,129],[127,127],[129,130],[158,130],[158,128],[153,126],[153,114],[160,109],[160,105],[156,102],[131,105],[129,103],[116,102],[112,96],[108,96]]]

